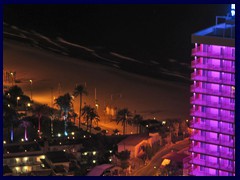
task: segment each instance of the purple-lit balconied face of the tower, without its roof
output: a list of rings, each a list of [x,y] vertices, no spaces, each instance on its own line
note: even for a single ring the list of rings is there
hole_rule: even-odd
[[[198,105],[192,104],[191,113],[194,114],[192,123],[196,126],[201,125],[201,127],[205,127],[201,130],[198,130],[198,128],[192,129],[192,136],[197,133],[197,136],[203,139],[201,139],[201,143],[196,139],[195,141],[192,140],[193,150],[191,154],[192,156],[195,154],[200,157],[202,153],[199,153],[194,147],[196,149],[197,147],[201,148],[202,151],[207,153],[206,164],[218,164],[218,159],[223,159],[220,156],[224,157],[226,156],[224,154],[234,152],[234,147],[229,141],[232,137],[232,129],[235,126],[234,113],[232,113],[234,112],[232,109],[234,102],[232,103],[231,99],[233,97],[230,94],[231,87],[235,88],[235,67],[232,65],[234,64],[232,61],[235,60],[232,58],[232,52],[234,51],[235,48],[233,47],[207,44],[200,44],[198,47],[197,43],[195,43],[195,49],[193,49],[192,69],[195,76],[192,76],[194,86],[191,102],[198,102]],[[198,65],[197,68],[195,68],[196,63]],[[231,84],[231,82],[234,83]],[[195,121],[195,116],[198,119],[197,121]],[[217,130],[219,131],[216,132]],[[215,157],[215,153],[219,153],[219,157]],[[229,158],[228,156],[226,157]],[[222,163],[228,162],[234,164],[235,159],[227,160],[227,162],[223,159]],[[201,165],[201,167],[203,167],[201,172],[219,175],[217,165],[212,168],[204,165]],[[224,170],[224,168],[225,166],[221,167],[220,174],[228,174],[229,169],[226,167]],[[198,169],[197,175],[200,172],[200,166],[196,165],[196,169]]]

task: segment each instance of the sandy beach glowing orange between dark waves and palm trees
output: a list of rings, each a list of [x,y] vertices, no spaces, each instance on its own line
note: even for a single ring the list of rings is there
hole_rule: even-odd
[[[94,106],[96,97],[100,117],[110,105],[128,108],[144,119],[189,117],[190,87],[186,84],[131,74],[10,40],[3,43],[3,67],[16,71],[20,81],[16,85],[29,96],[31,79],[33,100],[49,106],[59,95],[73,93],[76,84],[86,84],[88,96],[83,102]],[[78,112],[78,97],[74,109]]]

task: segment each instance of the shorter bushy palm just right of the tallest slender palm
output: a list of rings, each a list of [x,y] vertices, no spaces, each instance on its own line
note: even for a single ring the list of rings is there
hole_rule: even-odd
[[[88,127],[90,127],[90,133],[91,133],[92,122],[93,120],[99,121],[99,116],[97,114],[96,109],[92,108],[91,106],[84,106],[82,110],[83,110],[82,115],[86,118],[86,121],[87,121],[87,130],[88,130]],[[89,125],[89,121],[90,121],[90,125]]]

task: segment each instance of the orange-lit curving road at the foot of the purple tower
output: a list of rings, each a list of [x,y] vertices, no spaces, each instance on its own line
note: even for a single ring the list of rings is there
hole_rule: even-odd
[[[162,163],[162,157],[168,154],[171,149],[181,150],[189,146],[189,138],[186,138],[183,141],[179,141],[176,144],[172,144],[168,147],[164,147],[160,151],[155,154],[152,160],[144,167],[138,169],[137,171],[133,172],[131,176],[154,176],[157,173],[157,168],[160,167]],[[156,166],[156,168],[154,168]]]

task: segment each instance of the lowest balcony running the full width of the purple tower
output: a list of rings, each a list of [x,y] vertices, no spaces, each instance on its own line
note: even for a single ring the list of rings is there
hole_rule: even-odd
[[[214,163],[210,162],[207,160],[199,159],[199,158],[194,158],[190,161],[191,164],[199,165],[199,166],[205,166],[205,167],[210,167],[213,169],[220,169],[223,171],[229,171],[229,172],[234,172],[234,167],[233,166],[228,166],[224,163]]]

